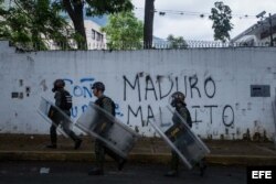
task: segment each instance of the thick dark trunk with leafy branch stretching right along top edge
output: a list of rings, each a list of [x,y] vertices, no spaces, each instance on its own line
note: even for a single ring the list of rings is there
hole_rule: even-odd
[[[86,33],[84,28],[84,8],[87,15],[103,15],[132,10],[130,0],[55,0],[68,13],[76,33],[79,35],[78,48],[87,48]]]

